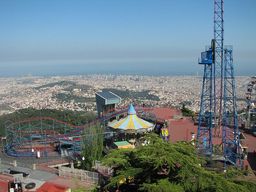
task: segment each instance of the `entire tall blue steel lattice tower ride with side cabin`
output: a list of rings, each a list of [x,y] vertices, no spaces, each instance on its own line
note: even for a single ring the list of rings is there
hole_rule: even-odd
[[[241,165],[232,46],[226,47],[224,57],[223,24],[223,0],[215,0],[214,39],[198,59],[198,63],[204,65],[204,81],[197,133],[197,140],[203,145],[198,142],[197,149],[212,156],[212,138],[222,138],[224,164]]]

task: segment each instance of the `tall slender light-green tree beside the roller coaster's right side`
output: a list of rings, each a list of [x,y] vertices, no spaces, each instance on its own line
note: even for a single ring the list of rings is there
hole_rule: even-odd
[[[103,130],[100,127],[100,123],[97,123],[89,128],[85,128],[84,136],[82,137],[82,156],[84,156],[84,167],[87,170],[91,170],[94,165],[94,161],[100,161],[102,159],[103,152]]]

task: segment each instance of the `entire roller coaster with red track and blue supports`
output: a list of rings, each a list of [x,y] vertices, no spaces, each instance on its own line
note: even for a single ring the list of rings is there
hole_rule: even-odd
[[[96,120],[76,126],[50,117],[34,117],[5,122],[6,153],[14,157],[70,156],[81,153],[81,136],[95,124],[103,129],[103,140],[111,139],[116,133],[108,129],[108,122],[126,115],[129,106],[112,108]],[[155,108],[150,105],[134,105],[137,116],[156,121]],[[33,150],[32,150],[33,149]],[[32,152],[34,151],[34,152]]]

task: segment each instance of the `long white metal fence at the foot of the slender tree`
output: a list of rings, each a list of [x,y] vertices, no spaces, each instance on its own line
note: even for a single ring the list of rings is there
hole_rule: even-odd
[[[90,172],[82,169],[72,169],[64,166],[59,166],[59,176],[90,183],[99,183],[101,178],[103,178],[102,174],[100,173]]]

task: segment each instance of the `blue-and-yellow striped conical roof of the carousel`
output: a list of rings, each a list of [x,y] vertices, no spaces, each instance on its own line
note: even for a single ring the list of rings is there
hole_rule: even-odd
[[[154,124],[149,123],[136,115],[136,111],[132,106],[132,102],[127,111],[127,116],[123,119],[110,124],[109,127],[115,129],[116,131],[120,130],[125,132],[125,130],[130,130],[134,132],[145,132],[153,129]]]

